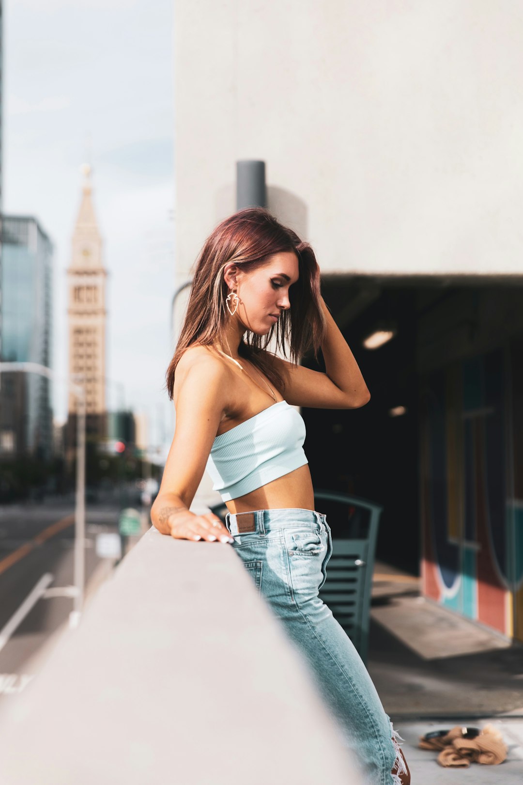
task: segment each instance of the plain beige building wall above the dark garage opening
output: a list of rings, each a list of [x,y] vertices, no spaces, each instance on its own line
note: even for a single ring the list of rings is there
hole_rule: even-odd
[[[176,279],[235,162],[325,272],[521,273],[517,0],[177,0]]]

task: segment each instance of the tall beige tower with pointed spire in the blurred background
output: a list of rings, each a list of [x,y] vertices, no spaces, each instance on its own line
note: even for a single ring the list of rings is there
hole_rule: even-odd
[[[67,268],[67,316],[69,374],[82,374],[86,413],[102,414],[105,402],[105,280],[102,239],[93,209],[89,166],[83,167],[85,182],[78,220],[74,227],[71,265]],[[69,412],[78,411],[71,392]]]

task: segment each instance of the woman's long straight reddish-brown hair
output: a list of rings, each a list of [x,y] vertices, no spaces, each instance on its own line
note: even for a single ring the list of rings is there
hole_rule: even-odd
[[[234,262],[249,272],[265,264],[274,254],[289,250],[296,253],[300,271],[299,279],[289,288],[290,308],[282,312],[267,335],[246,330],[238,346],[238,354],[258,367],[280,392],[285,389],[285,381],[266,351],[274,334],[276,347],[281,349],[285,358],[285,343],[289,345],[292,363],[297,364],[310,349],[314,350],[314,357],[318,357],[326,323],[320,306],[320,272],[314,251],[309,243],[300,240],[296,232],[281,225],[269,210],[246,207],[216,226],[195,262],[180,338],[165,374],[169,400],[173,400],[176,365],[185,349],[194,344],[212,345],[216,338],[220,340],[227,324],[229,314],[225,298],[228,287],[223,280],[225,265]]]

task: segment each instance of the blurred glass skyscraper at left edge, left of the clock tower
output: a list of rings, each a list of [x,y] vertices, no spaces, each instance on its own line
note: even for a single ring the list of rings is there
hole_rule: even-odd
[[[2,359],[51,366],[53,245],[31,216],[4,216]],[[49,379],[2,373],[0,458],[53,453]]]

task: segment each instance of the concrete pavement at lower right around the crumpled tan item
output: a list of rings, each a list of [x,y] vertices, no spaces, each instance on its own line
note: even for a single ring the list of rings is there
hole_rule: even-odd
[[[369,673],[394,722],[412,785],[523,783],[523,647],[419,596],[419,582],[376,564]],[[443,768],[419,736],[455,725],[499,729],[507,760]]]

